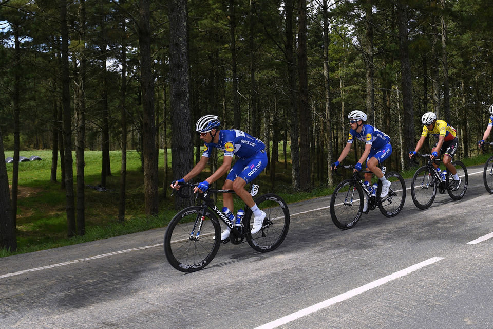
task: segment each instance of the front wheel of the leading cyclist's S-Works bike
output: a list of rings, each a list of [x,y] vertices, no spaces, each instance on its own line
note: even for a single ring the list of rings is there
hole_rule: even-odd
[[[209,264],[221,243],[221,226],[214,213],[202,206],[187,207],[169,222],[164,234],[164,253],[173,266],[182,272],[195,272]],[[197,238],[195,223],[202,221]],[[191,236],[196,237],[192,239]]]

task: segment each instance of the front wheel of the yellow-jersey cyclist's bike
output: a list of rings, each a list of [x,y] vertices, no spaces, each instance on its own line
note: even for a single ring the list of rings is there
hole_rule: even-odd
[[[437,196],[439,182],[427,166],[418,168],[411,181],[411,198],[414,205],[420,209],[427,209]]]

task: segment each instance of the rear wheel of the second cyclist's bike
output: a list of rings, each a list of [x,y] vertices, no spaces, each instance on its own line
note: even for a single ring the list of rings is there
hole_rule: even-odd
[[[389,194],[383,199],[378,196],[378,208],[380,208],[380,212],[384,216],[393,217],[401,212],[406,202],[406,182],[401,174],[396,171],[386,173],[385,177],[391,183]]]

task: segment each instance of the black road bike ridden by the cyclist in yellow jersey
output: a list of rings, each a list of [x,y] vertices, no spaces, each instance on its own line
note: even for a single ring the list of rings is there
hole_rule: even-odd
[[[453,177],[450,171],[447,171],[447,175],[444,179],[442,173],[439,173],[433,166],[435,163],[443,162],[441,159],[431,160],[430,154],[415,154],[415,157],[422,157],[427,159],[425,166],[422,166],[416,170],[411,181],[411,198],[414,205],[420,209],[427,209],[433,203],[435,196],[437,196],[437,190],[440,194],[444,194],[448,191],[450,197],[454,200],[460,200],[467,190],[468,178],[467,168],[461,161],[453,161],[452,165],[456,167],[457,174],[461,178],[461,184],[456,187],[452,184]]]

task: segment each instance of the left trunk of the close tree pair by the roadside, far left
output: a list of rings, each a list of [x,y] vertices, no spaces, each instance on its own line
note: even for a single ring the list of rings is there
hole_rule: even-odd
[[[65,196],[67,212],[67,235],[75,235],[75,207],[73,200],[73,159],[72,159],[72,113],[70,108],[70,72],[68,62],[68,26],[67,0],[60,0],[61,36],[62,36],[62,107],[63,107],[63,139],[65,148]]]

